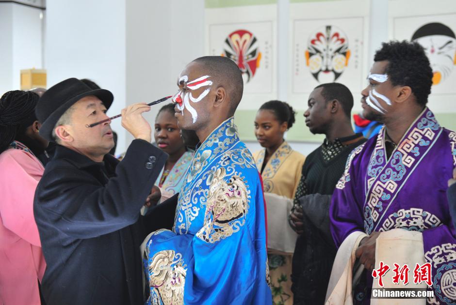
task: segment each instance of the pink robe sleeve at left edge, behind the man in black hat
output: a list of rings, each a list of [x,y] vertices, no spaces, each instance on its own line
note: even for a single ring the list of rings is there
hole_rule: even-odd
[[[41,246],[33,217],[33,196],[44,168],[21,150],[3,152],[0,164],[1,222],[23,240]]]

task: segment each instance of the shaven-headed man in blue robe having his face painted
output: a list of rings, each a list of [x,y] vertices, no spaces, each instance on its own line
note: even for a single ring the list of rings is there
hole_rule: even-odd
[[[241,71],[228,58],[202,57],[177,85],[179,127],[194,130],[200,144],[173,229],[143,244],[147,304],[271,304],[261,178],[233,119]]]

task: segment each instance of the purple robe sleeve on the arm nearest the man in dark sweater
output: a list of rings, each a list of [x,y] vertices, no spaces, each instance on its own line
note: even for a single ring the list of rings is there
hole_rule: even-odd
[[[358,155],[359,156],[359,155]],[[354,231],[364,231],[362,215],[362,177],[357,175],[360,158],[353,151],[347,159],[345,170],[336,184],[329,206],[329,228],[334,243],[339,247],[343,240]]]

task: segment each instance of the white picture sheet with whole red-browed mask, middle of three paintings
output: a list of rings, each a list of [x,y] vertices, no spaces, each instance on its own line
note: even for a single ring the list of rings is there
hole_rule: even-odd
[[[362,90],[364,25],[363,17],[293,20],[292,99],[306,99],[324,83],[339,82],[354,92]]]

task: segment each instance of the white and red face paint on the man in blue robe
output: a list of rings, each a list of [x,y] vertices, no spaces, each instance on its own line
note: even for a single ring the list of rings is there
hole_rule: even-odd
[[[201,87],[205,86],[211,86],[212,81],[210,81],[208,78],[211,77],[209,75],[201,76],[196,78],[195,80],[192,80],[190,82],[188,81],[188,76],[184,75],[179,78],[179,83],[181,82],[187,82],[187,88],[191,91],[194,91],[196,89],[199,89]],[[184,115],[184,109],[187,109],[188,112],[192,115],[193,123],[196,122],[198,119],[198,113],[196,112],[196,109],[190,105],[190,101],[193,103],[198,103],[201,101],[208,93],[211,91],[210,88],[206,89],[203,91],[198,97],[193,97],[192,92],[185,92],[183,93],[181,90],[176,93],[173,97],[173,102],[178,104],[178,109],[181,111],[182,115]]]

